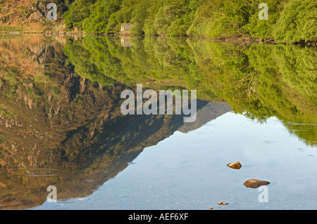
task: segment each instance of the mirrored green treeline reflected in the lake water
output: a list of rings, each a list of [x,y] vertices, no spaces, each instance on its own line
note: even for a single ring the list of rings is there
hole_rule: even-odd
[[[134,47],[121,48],[119,41],[85,37],[68,44],[66,55],[81,77],[103,84],[120,80],[130,86],[197,89],[198,98],[225,99],[247,117],[316,123],[317,53],[311,48],[261,44],[242,48],[160,37],[130,39]],[[87,70],[86,65],[94,69]],[[315,126],[312,130],[316,136]],[[311,132],[306,135],[310,137],[299,134],[316,138]]]

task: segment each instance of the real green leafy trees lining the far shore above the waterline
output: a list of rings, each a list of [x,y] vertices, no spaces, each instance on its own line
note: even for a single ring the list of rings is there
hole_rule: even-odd
[[[119,32],[132,22],[132,34],[316,39],[316,0],[267,0],[268,20],[259,20],[255,0],[75,0],[65,13],[69,27],[85,32]]]

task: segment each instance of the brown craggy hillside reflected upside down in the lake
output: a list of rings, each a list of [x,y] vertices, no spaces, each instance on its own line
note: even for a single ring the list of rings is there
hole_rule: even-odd
[[[85,197],[183,125],[181,115],[123,116],[125,85],[77,76],[61,44],[21,39],[0,46],[7,56],[0,75],[0,200],[17,199],[0,208],[42,204],[49,185],[58,199]],[[197,109],[207,103],[198,100]],[[214,117],[229,110],[218,105]],[[197,126],[210,119],[199,111]]]

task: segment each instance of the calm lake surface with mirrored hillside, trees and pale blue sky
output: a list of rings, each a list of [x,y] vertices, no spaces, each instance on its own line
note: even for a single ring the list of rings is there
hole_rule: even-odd
[[[317,209],[316,48],[5,36],[0,55],[0,209]],[[123,115],[137,84],[197,90],[196,121]]]

